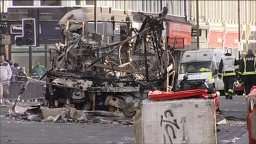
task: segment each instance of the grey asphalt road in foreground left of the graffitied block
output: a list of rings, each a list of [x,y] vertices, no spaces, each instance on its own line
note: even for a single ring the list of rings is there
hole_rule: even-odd
[[[58,124],[1,119],[1,143],[133,143],[131,126]]]

